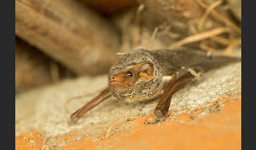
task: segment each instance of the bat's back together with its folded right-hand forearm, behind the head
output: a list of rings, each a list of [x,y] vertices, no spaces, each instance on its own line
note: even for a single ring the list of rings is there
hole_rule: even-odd
[[[154,110],[158,119],[168,113],[173,94],[200,76],[200,73],[241,61],[241,58],[235,57],[209,57],[204,52],[193,50],[160,50],[155,51],[153,55],[164,68],[162,71],[173,77],[164,88],[164,93]]]

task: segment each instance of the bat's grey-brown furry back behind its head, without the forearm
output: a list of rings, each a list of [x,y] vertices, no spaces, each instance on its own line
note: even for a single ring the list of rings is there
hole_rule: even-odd
[[[203,50],[154,50],[151,51],[163,74],[172,74],[184,69],[194,69],[196,72],[206,72],[214,68],[241,61],[241,58],[227,56],[208,56]]]

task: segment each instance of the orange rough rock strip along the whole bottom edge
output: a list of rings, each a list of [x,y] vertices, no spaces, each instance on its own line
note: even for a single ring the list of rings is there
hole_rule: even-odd
[[[179,110],[170,111],[172,115],[161,123],[151,124],[153,115],[116,123],[112,128],[132,129],[104,140],[100,140],[102,133],[98,140],[86,137],[76,141],[80,133],[71,132],[47,141],[56,141],[54,146],[60,149],[241,149],[241,94],[196,110],[180,110],[181,114],[175,111]],[[201,115],[203,112],[208,113]],[[15,138],[15,149],[41,149],[45,140],[38,132],[28,132]]]

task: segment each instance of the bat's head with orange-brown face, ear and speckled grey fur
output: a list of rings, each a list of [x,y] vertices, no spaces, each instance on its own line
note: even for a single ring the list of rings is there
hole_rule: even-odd
[[[126,102],[153,99],[162,88],[159,67],[148,50],[126,53],[110,68],[110,90]]]

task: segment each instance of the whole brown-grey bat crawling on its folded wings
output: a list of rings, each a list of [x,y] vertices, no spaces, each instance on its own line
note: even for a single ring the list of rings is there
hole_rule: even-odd
[[[241,61],[241,58],[208,56],[202,50],[145,50],[126,53],[109,70],[109,86],[71,115],[71,122],[110,98],[128,103],[160,98],[154,110],[166,117],[173,94],[211,69]]]

